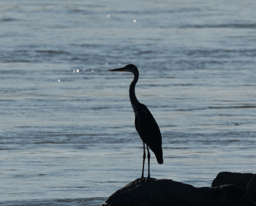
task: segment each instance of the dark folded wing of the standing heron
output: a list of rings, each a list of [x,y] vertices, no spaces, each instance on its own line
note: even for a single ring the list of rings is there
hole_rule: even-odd
[[[135,112],[135,128],[141,139],[156,154],[158,150],[162,150],[162,138],[160,129],[155,118],[146,108],[139,109]]]

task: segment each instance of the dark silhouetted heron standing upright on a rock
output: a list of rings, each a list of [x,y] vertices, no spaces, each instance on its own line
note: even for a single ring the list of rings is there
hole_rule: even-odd
[[[135,129],[140,135],[143,142],[143,166],[142,166],[142,176],[144,178],[144,164],[146,159],[145,144],[147,147],[147,159],[148,159],[148,176],[150,178],[149,171],[149,160],[150,152],[148,147],[155,153],[157,162],[159,164],[163,163],[163,151],[162,151],[162,137],[160,129],[157,122],[147,107],[141,104],[135,95],[135,85],[139,79],[139,70],[133,64],[128,64],[122,68],[116,68],[114,70],[109,70],[109,72],[130,72],[134,75],[133,81],[130,84],[129,96],[131,101],[131,106],[135,115]]]

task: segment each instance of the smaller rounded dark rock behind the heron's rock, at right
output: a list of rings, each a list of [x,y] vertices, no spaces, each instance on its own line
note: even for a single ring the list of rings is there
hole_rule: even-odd
[[[224,184],[234,184],[240,187],[246,193],[247,185],[253,176],[254,174],[252,173],[230,173],[229,171],[222,171],[214,179],[212,187],[217,187]]]

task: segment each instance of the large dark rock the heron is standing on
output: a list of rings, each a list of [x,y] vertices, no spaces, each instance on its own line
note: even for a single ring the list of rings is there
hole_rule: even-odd
[[[235,185],[194,187],[168,179],[134,180],[111,195],[101,206],[249,206],[256,203]]]

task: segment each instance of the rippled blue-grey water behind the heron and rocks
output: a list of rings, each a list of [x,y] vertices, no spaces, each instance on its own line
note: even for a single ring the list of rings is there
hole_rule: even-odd
[[[99,205],[141,176],[132,75],[108,72],[129,63],[162,132],[152,177],[210,186],[220,171],[255,173],[255,9],[2,0],[0,204]]]

